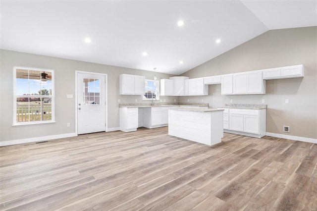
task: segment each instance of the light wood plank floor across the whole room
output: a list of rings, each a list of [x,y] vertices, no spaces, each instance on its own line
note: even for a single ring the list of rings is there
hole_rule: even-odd
[[[0,148],[0,210],[317,210],[317,144],[167,127]]]

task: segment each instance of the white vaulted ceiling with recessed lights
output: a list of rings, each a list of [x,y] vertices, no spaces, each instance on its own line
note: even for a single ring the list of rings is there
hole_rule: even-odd
[[[1,49],[176,75],[268,30],[317,25],[317,0],[1,0],[0,12]]]

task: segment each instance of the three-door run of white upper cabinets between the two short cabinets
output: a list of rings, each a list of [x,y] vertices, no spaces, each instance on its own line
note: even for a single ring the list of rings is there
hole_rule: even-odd
[[[240,72],[221,76],[222,95],[265,94],[262,71]]]

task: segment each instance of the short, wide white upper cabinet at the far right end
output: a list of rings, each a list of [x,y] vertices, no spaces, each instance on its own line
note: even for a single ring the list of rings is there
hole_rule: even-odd
[[[265,80],[304,77],[303,64],[264,69],[262,71]]]

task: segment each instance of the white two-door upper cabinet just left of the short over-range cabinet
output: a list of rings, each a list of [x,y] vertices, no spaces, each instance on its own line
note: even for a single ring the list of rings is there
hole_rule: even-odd
[[[204,84],[204,78],[193,78],[185,80],[185,95],[208,95],[208,85]]]

